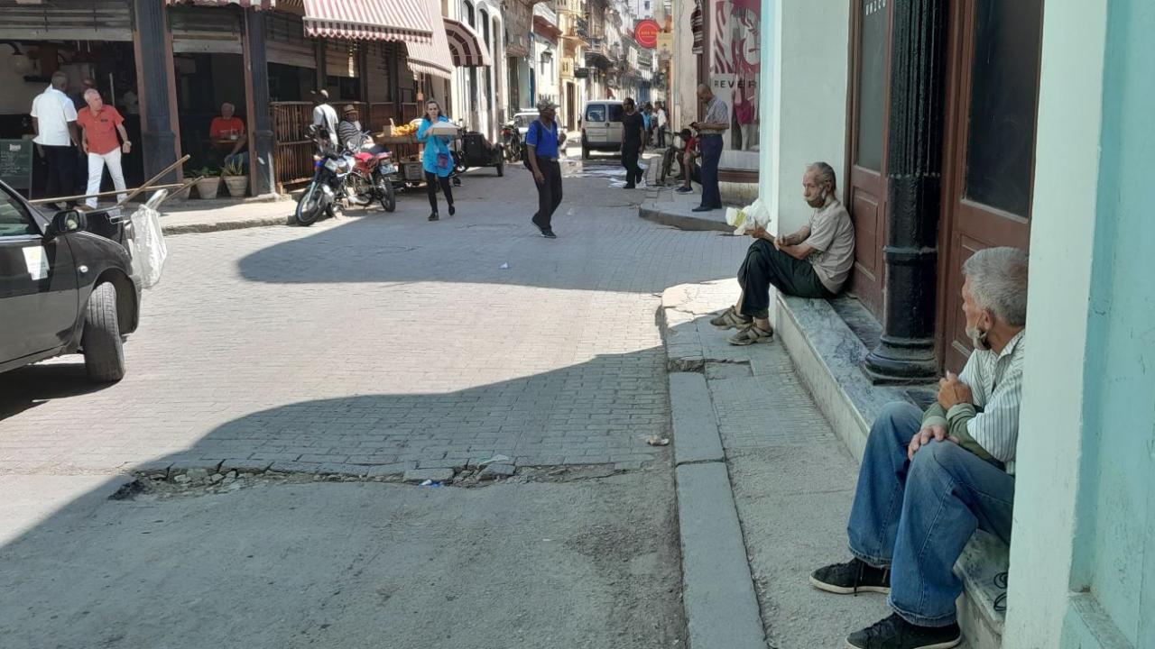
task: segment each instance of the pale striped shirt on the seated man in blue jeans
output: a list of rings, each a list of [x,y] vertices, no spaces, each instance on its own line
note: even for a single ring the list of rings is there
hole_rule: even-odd
[[[957,431],[963,447],[982,447],[1014,475],[1015,445],[1019,442],[1019,406],[1022,404],[1022,364],[1027,355],[1026,330],[1019,331],[1003,351],[975,350],[959,380],[970,388],[974,403],[959,403],[946,411],[932,408],[923,425],[948,426]],[[966,422],[956,428],[956,422]],[[969,439],[968,439],[969,438]]]

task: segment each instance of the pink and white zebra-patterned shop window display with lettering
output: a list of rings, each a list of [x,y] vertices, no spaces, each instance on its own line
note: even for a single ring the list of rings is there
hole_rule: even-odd
[[[714,0],[711,7],[710,90],[730,109],[725,148],[757,151],[761,2]]]

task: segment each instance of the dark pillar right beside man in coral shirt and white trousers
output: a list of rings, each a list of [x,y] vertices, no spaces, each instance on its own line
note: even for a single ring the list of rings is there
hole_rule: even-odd
[[[173,70],[167,47],[169,21],[164,2],[133,0],[136,18],[136,57],[142,90],[141,140],[144,154],[144,176],[151,178],[177,162],[177,135],[172,132]],[[170,172],[162,182],[176,182],[177,172]]]

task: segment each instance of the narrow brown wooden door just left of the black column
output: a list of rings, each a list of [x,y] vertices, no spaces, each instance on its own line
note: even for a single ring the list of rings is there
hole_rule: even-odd
[[[852,0],[850,118],[847,130],[847,209],[855,223],[850,291],[882,315],[886,244],[886,135],[891,87],[893,0]]]

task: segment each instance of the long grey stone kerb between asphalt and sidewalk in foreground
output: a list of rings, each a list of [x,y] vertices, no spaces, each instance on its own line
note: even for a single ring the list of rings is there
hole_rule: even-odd
[[[669,356],[668,298],[658,313]],[[669,365],[668,365],[669,366]],[[672,370],[672,368],[671,368]],[[678,534],[688,649],[765,649],[766,633],[706,376],[671,372]]]

